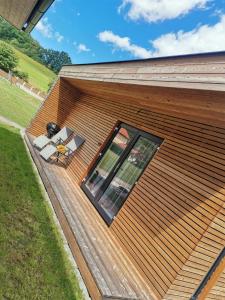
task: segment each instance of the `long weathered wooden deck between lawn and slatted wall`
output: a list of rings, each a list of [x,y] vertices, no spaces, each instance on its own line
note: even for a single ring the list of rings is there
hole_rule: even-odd
[[[66,169],[25,139],[92,299],[157,299]]]

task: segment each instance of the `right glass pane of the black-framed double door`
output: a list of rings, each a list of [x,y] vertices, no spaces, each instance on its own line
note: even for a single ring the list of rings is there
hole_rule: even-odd
[[[128,193],[144,170],[158,145],[140,137],[117,174],[99,200],[100,206],[112,219],[123,205]]]

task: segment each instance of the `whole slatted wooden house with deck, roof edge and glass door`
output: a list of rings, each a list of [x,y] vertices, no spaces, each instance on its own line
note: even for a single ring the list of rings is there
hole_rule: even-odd
[[[224,53],[64,66],[26,141],[92,299],[225,299]]]

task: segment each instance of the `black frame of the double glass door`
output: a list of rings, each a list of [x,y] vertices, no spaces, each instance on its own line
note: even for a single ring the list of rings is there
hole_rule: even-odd
[[[131,139],[131,141],[128,143],[126,149],[122,152],[122,154],[121,154],[120,158],[118,159],[118,161],[116,162],[115,166],[110,171],[108,178],[105,180],[105,182],[103,184],[103,190],[99,191],[99,193],[97,195],[97,198],[96,198],[96,197],[94,197],[92,195],[92,193],[90,192],[90,190],[87,188],[86,183],[87,183],[87,181],[90,178],[90,176],[92,175],[94,169],[96,168],[96,166],[98,165],[98,163],[101,161],[101,159],[104,156],[105,152],[108,150],[108,148],[111,145],[113,139],[115,138],[115,136],[117,135],[117,133],[119,132],[119,130],[121,128],[125,128],[125,129],[127,128],[130,131],[132,131],[135,135]],[[147,168],[149,162],[154,158],[156,152],[158,151],[159,147],[163,143],[163,138],[158,137],[156,135],[153,135],[153,134],[151,134],[149,132],[143,131],[141,129],[135,128],[135,127],[133,127],[131,125],[128,125],[126,123],[123,123],[123,122],[118,123],[118,125],[114,128],[114,131],[111,134],[111,137],[109,138],[109,140],[107,141],[107,143],[105,144],[104,149],[102,149],[102,151],[99,153],[98,158],[95,160],[94,164],[92,165],[92,167],[88,171],[87,176],[82,180],[82,183],[81,183],[82,190],[84,191],[84,193],[86,194],[86,196],[88,197],[88,199],[91,201],[91,203],[93,204],[93,206],[97,209],[97,211],[99,212],[99,214],[101,215],[101,217],[107,223],[108,226],[110,226],[111,223],[113,222],[113,220],[116,218],[116,215],[119,213],[119,211],[123,207],[124,203],[126,202],[127,198],[129,197],[130,193],[132,192],[135,184],[130,189],[130,191],[127,194],[126,198],[124,198],[123,204],[121,205],[120,209],[114,215],[113,218],[110,218],[108,216],[108,214],[105,212],[105,210],[98,204],[98,200],[104,194],[104,192],[106,191],[107,187],[109,186],[109,184],[111,183],[111,181],[113,180],[113,178],[115,177],[115,175],[117,174],[117,171],[120,169],[120,167],[122,166],[123,162],[128,157],[129,153],[131,152],[132,148],[134,147],[134,145],[136,144],[136,142],[138,141],[138,139],[140,137],[148,138],[149,140],[151,140],[154,143],[156,143],[158,145],[158,147],[155,150],[155,152],[152,155],[152,157],[150,157],[148,159],[148,161],[146,162],[145,167],[143,168],[142,172],[140,173],[139,177],[136,180],[136,182],[137,182],[140,179],[140,177],[142,176],[142,174],[145,171],[145,169]]]

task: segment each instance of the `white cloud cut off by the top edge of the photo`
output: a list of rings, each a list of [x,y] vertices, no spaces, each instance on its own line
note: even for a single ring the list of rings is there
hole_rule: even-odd
[[[157,22],[174,19],[195,8],[205,8],[211,0],[122,0],[119,12],[127,9],[127,16],[134,21]]]

